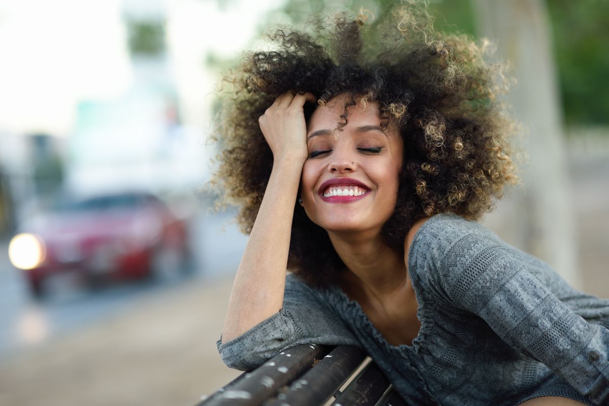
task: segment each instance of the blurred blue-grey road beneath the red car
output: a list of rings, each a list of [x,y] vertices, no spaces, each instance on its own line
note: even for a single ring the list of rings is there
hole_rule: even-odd
[[[82,329],[107,315],[119,314],[147,296],[163,296],[169,289],[214,281],[236,269],[247,241],[230,220],[234,212],[206,214],[189,223],[192,252],[197,267],[186,279],[163,282],[130,282],[105,287],[91,294],[76,278],[57,278],[51,295],[41,303],[31,299],[19,275],[10,265],[8,242],[0,246],[0,365],[16,352],[36,348]],[[228,297],[227,297],[228,298]]]

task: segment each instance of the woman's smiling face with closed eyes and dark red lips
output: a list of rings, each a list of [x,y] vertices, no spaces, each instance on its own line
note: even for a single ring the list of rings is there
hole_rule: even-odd
[[[403,141],[397,128],[381,130],[376,103],[350,107],[347,125],[335,136],[345,97],[318,107],[309,120],[303,206],[327,231],[380,233],[395,209]]]

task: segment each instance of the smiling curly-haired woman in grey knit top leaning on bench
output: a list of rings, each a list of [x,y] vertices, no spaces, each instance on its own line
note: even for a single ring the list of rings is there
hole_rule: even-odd
[[[609,404],[609,301],[474,221],[515,181],[501,66],[393,18],[278,30],[228,79],[216,179],[250,239],[222,359],[358,345],[411,404]]]

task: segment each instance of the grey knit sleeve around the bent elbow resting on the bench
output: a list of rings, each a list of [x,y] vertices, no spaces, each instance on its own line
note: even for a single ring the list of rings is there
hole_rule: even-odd
[[[300,344],[357,345],[340,318],[320,295],[294,275],[286,278],[282,309],[239,337],[217,341],[222,361],[230,368],[257,368],[284,349]]]

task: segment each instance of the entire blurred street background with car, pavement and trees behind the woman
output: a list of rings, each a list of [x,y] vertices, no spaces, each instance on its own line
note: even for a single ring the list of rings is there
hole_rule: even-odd
[[[0,405],[193,405],[247,238],[211,210],[220,73],[273,24],[392,1],[0,0]],[[484,222],[609,298],[609,2],[430,0],[516,79]]]

